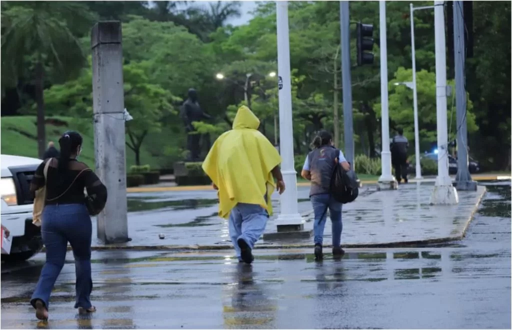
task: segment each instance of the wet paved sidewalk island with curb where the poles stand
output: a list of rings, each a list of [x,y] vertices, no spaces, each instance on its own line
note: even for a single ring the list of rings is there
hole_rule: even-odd
[[[391,247],[455,240],[463,236],[473,213],[485,193],[459,192],[456,206],[430,206],[432,183],[399,186],[395,191],[376,191],[376,186],[361,188],[358,199],[344,205],[342,244],[345,247]],[[298,189],[299,212],[305,229],[313,228],[309,189]],[[279,214],[279,195],[272,195],[275,214]],[[164,191],[129,194],[128,226],[132,240],[105,246],[96,239],[93,221],[93,249],[231,249],[227,221],[217,215],[217,194],[209,191]],[[138,210],[138,211],[137,211]],[[328,221],[330,223],[330,220]],[[275,232],[274,218],[266,232]],[[159,239],[159,234],[165,235]],[[331,244],[331,226],[326,225],[324,245]],[[313,238],[293,241],[260,240],[258,248],[312,246]]]

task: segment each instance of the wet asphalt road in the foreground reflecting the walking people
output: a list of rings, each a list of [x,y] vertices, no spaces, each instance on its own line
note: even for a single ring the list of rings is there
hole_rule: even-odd
[[[2,328],[510,328],[510,184],[489,186],[466,238],[422,249],[93,253],[98,311],[73,309],[73,257],[48,323],[28,300],[44,255],[2,265]]]

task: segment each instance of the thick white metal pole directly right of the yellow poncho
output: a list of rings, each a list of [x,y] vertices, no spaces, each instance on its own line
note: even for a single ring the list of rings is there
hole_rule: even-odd
[[[297,174],[293,164],[293,121],[291,104],[290,40],[288,2],[276,1],[279,74],[279,132],[281,172],[286,185],[281,195],[281,213],[276,219],[278,232],[303,230],[304,220],[298,213]]]

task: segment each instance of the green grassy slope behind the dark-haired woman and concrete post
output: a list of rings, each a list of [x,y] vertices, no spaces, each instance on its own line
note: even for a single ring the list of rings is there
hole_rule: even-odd
[[[49,124],[49,120],[55,120]],[[82,153],[79,160],[94,168],[94,127],[92,119],[72,117],[47,117],[46,140],[58,139],[66,130],[76,130],[83,137]],[[0,120],[1,152],[3,155],[16,155],[37,158],[37,126],[35,116],[10,116]],[[126,137],[126,139],[128,139]],[[141,147],[140,162],[151,168],[159,168],[159,159],[152,157],[144,144]],[[135,165],[135,153],[126,147],[126,169]]]

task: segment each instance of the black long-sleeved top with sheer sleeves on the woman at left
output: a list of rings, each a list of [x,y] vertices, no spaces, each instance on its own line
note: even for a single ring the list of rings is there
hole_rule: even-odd
[[[83,204],[86,199],[84,194],[84,188],[86,188],[87,194],[93,200],[94,205],[102,209],[106,203],[106,187],[94,171],[86,164],[71,159],[68,170],[65,173],[59,173],[57,169],[58,160],[58,158],[50,158],[37,167],[30,184],[30,190],[36,191],[45,186],[46,183],[45,205]],[[50,162],[50,164],[47,180],[45,180],[44,169],[47,162]]]

